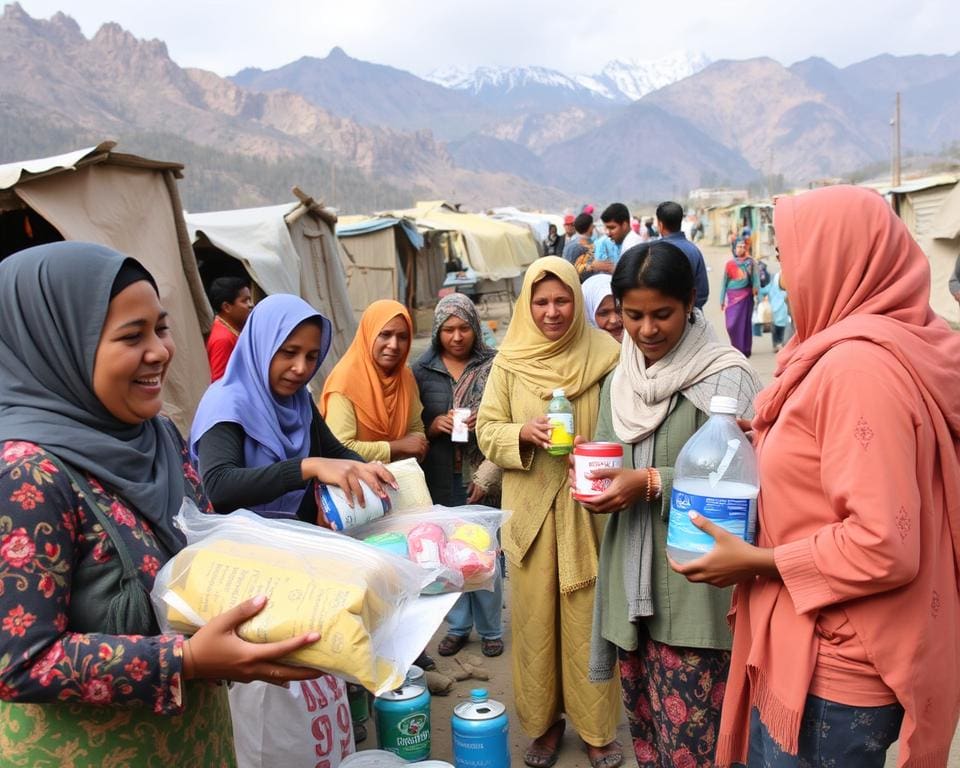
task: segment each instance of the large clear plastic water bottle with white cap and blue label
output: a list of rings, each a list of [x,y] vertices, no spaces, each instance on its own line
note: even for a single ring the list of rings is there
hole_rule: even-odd
[[[757,457],[737,426],[737,400],[716,396],[707,423],[677,456],[667,554],[686,563],[713,549],[713,537],[693,524],[691,510],[752,544],[759,493]]]

